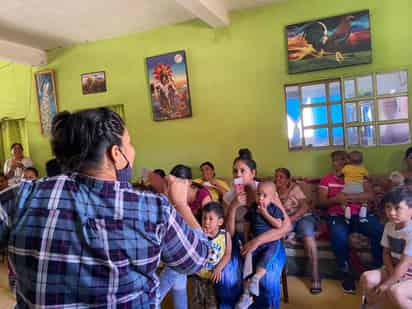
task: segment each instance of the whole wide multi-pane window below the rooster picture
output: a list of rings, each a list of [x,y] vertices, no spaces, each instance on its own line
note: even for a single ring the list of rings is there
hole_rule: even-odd
[[[287,85],[285,98],[289,149],[410,142],[406,71]]]

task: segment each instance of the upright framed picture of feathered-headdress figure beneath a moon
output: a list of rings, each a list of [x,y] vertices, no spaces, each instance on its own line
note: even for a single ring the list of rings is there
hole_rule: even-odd
[[[186,54],[183,50],[146,58],[153,120],[192,116]]]

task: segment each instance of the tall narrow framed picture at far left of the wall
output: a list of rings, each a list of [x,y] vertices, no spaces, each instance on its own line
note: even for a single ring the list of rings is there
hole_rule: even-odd
[[[57,114],[56,85],[54,71],[40,71],[34,74],[40,126],[43,135],[50,136],[53,117]]]

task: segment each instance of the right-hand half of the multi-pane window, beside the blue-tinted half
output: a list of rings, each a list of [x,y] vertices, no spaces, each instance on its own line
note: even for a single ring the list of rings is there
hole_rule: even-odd
[[[346,145],[410,142],[406,71],[356,76],[343,85]]]

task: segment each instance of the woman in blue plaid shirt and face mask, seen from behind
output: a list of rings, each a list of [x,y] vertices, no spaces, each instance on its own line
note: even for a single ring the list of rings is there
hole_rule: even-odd
[[[187,274],[208,258],[187,181],[168,178],[173,206],[134,190],[135,150],[107,108],[57,114],[51,144],[68,174],[0,194],[0,248],[16,271],[16,307],[159,308],[160,259]]]

